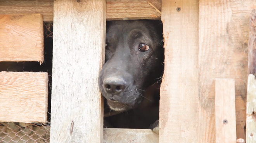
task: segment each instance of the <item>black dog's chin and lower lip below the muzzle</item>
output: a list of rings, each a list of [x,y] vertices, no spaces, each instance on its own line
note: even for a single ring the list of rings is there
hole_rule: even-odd
[[[114,111],[126,111],[132,108],[131,105],[112,100],[107,100],[107,104],[109,105],[109,108]]]

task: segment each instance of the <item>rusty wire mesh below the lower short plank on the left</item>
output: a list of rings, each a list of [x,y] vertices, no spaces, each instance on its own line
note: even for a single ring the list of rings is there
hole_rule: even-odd
[[[0,143],[49,143],[50,126],[42,123],[0,123]]]

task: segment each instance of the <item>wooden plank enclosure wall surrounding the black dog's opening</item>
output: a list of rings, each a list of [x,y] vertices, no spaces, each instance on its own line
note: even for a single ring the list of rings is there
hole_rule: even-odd
[[[254,0],[0,1],[0,61],[44,64],[43,22],[54,23],[50,127],[48,73],[0,72],[1,142],[39,135],[36,126],[45,138],[34,142],[48,141],[49,130],[52,143],[256,142],[255,8]],[[159,135],[103,129],[106,20],[131,19],[163,22]]]

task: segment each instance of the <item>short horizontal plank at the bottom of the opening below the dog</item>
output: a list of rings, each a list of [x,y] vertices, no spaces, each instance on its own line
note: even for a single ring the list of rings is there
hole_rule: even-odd
[[[158,143],[159,136],[149,129],[104,128],[103,143]]]

